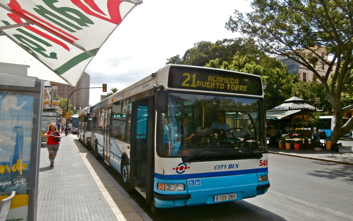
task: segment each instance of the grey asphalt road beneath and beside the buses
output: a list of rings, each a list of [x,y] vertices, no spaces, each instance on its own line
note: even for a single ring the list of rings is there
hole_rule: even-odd
[[[119,174],[103,161],[101,163],[123,186]],[[262,196],[160,209],[158,213],[151,213],[150,205],[144,203],[144,198],[137,192],[132,191],[130,196],[154,221],[353,221],[352,165],[270,154],[269,179],[271,187]]]

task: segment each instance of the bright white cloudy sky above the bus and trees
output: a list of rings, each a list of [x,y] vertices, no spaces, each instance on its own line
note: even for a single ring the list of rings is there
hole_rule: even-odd
[[[241,37],[225,28],[234,10],[250,12],[249,0],[143,0],[110,35],[85,71],[90,87],[124,89],[155,72],[200,41]],[[89,104],[106,94],[90,89]]]

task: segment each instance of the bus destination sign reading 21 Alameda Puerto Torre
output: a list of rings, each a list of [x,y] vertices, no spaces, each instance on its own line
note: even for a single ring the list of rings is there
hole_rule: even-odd
[[[261,78],[226,70],[170,66],[168,87],[262,95]]]

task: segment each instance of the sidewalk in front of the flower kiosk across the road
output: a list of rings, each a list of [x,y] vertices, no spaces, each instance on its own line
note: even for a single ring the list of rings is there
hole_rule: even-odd
[[[338,143],[341,143],[341,141],[344,140],[342,139]],[[341,153],[336,151],[328,151],[325,149],[322,149],[322,151],[314,151],[313,149],[287,150],[280,149],[279,147],[267,147],[267,149],[268,152],[272,154],[353,165],[353,153]]]

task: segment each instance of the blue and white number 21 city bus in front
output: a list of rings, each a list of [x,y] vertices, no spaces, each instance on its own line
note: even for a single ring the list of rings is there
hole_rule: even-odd
[[[166,65],[93,112],[96,155],[152,211],[255,197],[270,186],[260,76]]]

